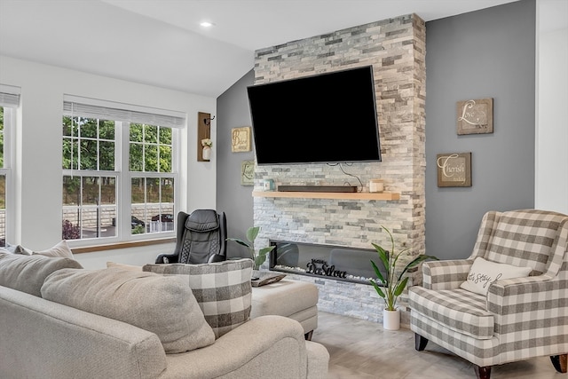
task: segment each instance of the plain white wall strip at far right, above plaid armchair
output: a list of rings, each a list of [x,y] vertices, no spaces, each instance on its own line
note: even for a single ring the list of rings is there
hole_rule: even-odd
[[[540,1],[566,14],[566,4]],[[564,7],[564,12],[562,9]],[[537,127],[535,201],[537,209],[568,214],[568,28],[549,30],[549,10],[540,12],[537,33]],[[564,16],[565,17],[565,16]],[[565,21],[564,21],[565,22]]]

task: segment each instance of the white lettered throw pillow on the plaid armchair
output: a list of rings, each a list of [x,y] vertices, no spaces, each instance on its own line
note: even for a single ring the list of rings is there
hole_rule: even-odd
[[[525,278],[533,271],[533,267],[517,267],[514,265],[498,264],[477,257],[469,269],[468,280],[461,283],[460,288],[487,295],[489,285],[496,280]]]

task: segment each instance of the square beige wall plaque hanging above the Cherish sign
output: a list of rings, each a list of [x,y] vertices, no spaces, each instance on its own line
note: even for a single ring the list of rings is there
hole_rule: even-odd
[[[458,135],[493,133],[493,99],[457,102]]]

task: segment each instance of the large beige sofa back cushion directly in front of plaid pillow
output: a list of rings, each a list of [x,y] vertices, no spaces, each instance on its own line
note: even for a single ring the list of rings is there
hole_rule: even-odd
[[[43,283],[42,296],[153,332],[166,353],[192,351],[215,342],[182,278],[118,268],[59,270]]]

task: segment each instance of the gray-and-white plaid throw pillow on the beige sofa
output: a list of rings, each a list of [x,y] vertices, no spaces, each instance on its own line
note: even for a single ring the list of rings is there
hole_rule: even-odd
[[[252,267],[247,258],[202,265],[144,265],[142,270],[187,275],[205,320],[218,338],[250,317]]]

